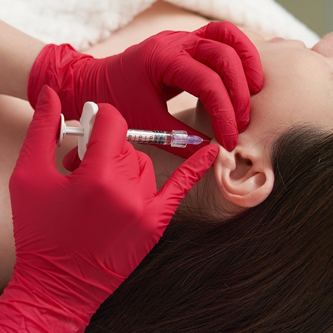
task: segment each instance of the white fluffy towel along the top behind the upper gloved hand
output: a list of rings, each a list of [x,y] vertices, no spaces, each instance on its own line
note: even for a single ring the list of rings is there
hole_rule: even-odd
[[[84,50],[127,25],[156,0],[0,0],[0,19],[45,43]],[[216,20],[304,41],[318,35],[274,0],[166,0]]]

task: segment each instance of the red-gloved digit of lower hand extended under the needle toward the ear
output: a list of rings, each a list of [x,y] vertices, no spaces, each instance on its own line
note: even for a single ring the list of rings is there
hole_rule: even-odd
[[[182,163],[164,183],[158,196],[161,197],[164,206],[169,209],[165,212],[166,214],[172,216],[176,212],[180,201],[211,168],[218,152],[218,145],[206,145]]]

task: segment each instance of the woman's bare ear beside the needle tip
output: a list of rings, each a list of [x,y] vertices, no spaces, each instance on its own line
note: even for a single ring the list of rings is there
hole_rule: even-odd
[[[232,152],[220,147],[214,171],[224,198],[238,206],[254,207],[272,192],[274,171],[261,145],[237,145]]]

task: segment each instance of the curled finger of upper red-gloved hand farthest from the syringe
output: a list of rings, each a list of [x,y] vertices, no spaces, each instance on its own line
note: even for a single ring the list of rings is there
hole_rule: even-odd
[[[258,93],[263,86],[263,73],[259,53],[251,40],[230,22],[211,22],[193,32],[231,46],[242,60],[249,91]]]

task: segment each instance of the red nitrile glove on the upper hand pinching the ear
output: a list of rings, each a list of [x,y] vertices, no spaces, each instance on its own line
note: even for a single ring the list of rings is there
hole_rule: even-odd
[[[194,32],[161,32],[104,59],[68,44],[48,45],[30,74],[32,107],[44,84],[58,93],[66,119],[79,119],[86,101],[108,102],[129,128],[185,130],[209,140],[168,113],[166,100],[187,91],[212,116],[218,142],[232,150],[238,132],[248,125],[250,93],[260,91],[263,74],[258,51],[246,35],[231,23],[213,22]],[[204,144],[158,147],[186,158]]]

